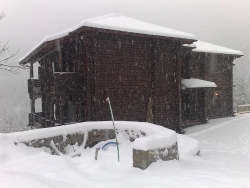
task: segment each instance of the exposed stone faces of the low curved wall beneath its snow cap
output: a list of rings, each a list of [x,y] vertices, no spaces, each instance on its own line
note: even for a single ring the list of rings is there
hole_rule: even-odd
[[[122,132],[124,136],[131,142],[137,138],[139,139],[140,137],[148,136],[146,133],[140,130],[118,130],[118,132]],[[60,152],[62,154],[67,153],[68,146],[73,147],[76,145],[84,148],[93,147],[100,141],[106,141],[114,138],[115,134],[113,129],[93,129],[74,134],[35,139],[22,143],[35,148],[44,148],[46,152],[49,152],[53,155],[60,155]],[[156,162],[159,159],[163,161],[173,159],[178,160],[179,154],[177,142],[171,147],[156,148],[148,151],[133,149],[133,167],[145,170],[151,163]]]

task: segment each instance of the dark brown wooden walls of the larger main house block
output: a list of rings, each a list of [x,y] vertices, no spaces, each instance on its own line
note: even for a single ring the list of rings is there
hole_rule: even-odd
[[[70,33],[39,61],[43,113],[55,123],[111,120],[109,97],[115,120],[176,129],[181,47],[191,42],[87,27]]]

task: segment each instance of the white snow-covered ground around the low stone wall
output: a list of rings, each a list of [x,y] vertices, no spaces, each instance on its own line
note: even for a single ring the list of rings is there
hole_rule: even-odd
[[[132,144],[122,135],[120,163],[113,146],[100,150],[96,161],[95,148],[70,158],[2,139],[0,187],[250,187],[249,122],[250,114],[243,114],[188,128],[201,156],[180,148],[180,161],[158,161],[144,171],[132,167]]]

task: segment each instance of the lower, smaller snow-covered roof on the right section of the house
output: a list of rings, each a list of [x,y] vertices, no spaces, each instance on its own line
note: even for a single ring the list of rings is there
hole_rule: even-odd
[[[200,41],[200,40],[198,40],[190,45],[184,44],[183,46],[186,46],[186,47],[195,47],[196,46],[196,48],[192,50],[194,52],[230,54],[230,55],[239,55],[239,56],[244,55],[241,51],[233,50],[230,48],[225,48],[222,46],[218,46],[218,45],[211,44],[211,43],[204,42],[204,41]]]

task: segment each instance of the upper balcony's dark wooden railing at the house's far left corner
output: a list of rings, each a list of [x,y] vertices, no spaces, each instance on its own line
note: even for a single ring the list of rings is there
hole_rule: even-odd
[[[30,99],[41,98],[41,84],[38,79],[28,79],[28,92]]]

